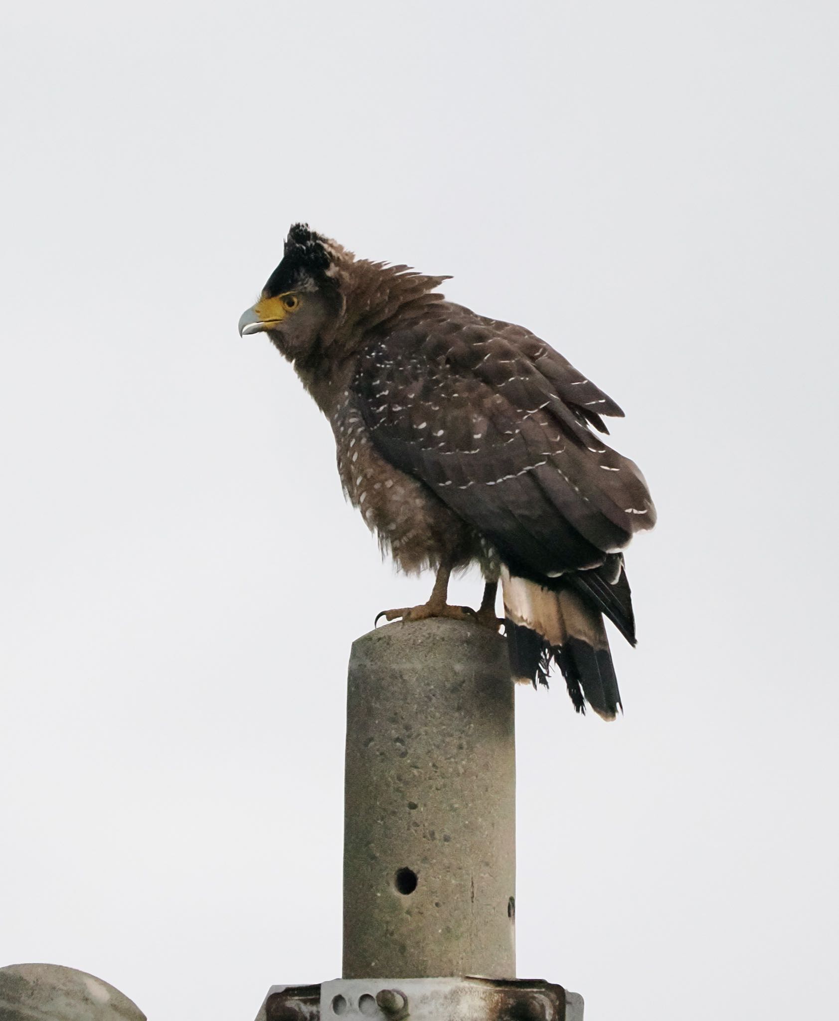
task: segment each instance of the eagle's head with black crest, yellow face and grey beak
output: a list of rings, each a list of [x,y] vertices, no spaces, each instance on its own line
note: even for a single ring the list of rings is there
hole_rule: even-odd
[[[331,333],[341,317],[341,268],[352,255],[336,242],[295,224],[286,238],[283,260],[268,277],[259,300],[239,320],[239,333],[267,333],[294,360]]]

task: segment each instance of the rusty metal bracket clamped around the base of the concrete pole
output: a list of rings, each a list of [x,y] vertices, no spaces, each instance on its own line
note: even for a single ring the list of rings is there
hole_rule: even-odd
[[[583,1021],[583,998],[542,979],[336,978],[273,985],[256,1021]]]

